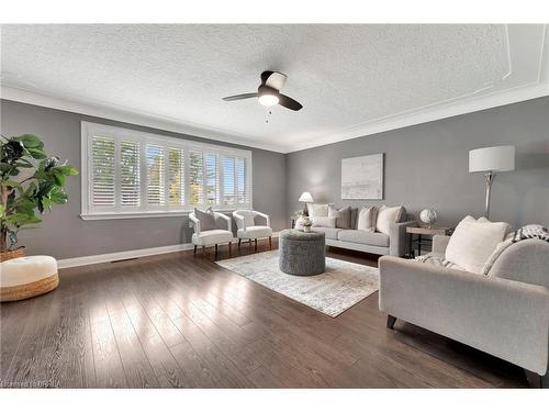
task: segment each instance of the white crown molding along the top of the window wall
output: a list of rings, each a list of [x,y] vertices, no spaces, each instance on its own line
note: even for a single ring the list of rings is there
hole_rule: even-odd
[[[12,100],[21,103],[34,104],[44,108],[63,110],[78,114],[113,120],[117,122],[131,123],[139,126],[158,129],[167,132],[181,133],[195,137],[209,138],[217,142],[260,148],[264,151],[288,153],[288,148],[283,145],[271,144],[267,142],[258,142],[250,136],[239,135],[215,129],[210,129],[202,125],[189,124],[177,121],[175,119],[163,116],[154,113],[138,112],[126,108],[108,105],[101,103],[88,103],[77,100],[35,92],[18,87],[4,86],[1,87],[0,98]]]

